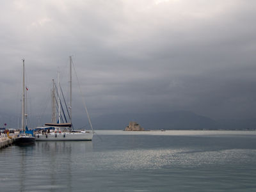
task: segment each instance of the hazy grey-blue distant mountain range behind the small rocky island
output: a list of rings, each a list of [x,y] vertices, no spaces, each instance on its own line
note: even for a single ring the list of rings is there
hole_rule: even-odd
[[[254,130],[256,129],[256,119],[213,120],[209,117],[197,115],[191,111],[172,111],[163,113],[148,114],[109,114],[93,118],[93,128],[96,130],[112,129],[122,130],[129,122],[138,122],[146,130],[166,129],[166,130]]]

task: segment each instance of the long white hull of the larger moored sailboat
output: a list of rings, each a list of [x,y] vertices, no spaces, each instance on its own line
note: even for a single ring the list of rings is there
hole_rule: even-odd
[[[91,132],[51,132],[49,134],[36,134],[36,141],[92,141]]]

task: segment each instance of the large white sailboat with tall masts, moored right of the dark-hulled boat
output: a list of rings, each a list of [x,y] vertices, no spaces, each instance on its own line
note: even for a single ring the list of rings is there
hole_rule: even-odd
[[[70,106],[68,107],[69,123],[61,123],[61,112],[60,112],[60,75],[58,73],[58,123],[55,124],[55,95],[54,95],[54,81],[53,81],[53,91],[52,91],[52,123],[45,124],[36,132],[36,141],[92,141],[93,138],[93,128],[86,109],[88,116],[88,121],[92,128],[92,131],[76,130],[72,131],[72,57],[70,56]],[[86,108],[86,106],[85,106]]]

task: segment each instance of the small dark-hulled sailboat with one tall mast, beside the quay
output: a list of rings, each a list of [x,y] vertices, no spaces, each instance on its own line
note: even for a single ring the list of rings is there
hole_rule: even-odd
[[[35,137],[31,134],[27,134],[25,130],[25,118],[27,114],[25,113],[25,60],[23,59],[23,82],[22,82],[22,118],[21,118],[21,133],[17,138],[15,138],[16,145],[31,145],[35,143]]]

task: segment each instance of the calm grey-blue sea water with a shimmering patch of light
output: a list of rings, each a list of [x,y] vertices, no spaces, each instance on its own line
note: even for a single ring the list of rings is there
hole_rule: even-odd
[[[256,131],[97,131],[0,150],[0,191],[256,191]]]

